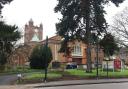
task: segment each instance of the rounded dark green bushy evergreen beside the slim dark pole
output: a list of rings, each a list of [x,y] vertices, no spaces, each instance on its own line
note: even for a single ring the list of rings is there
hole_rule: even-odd
[[[47,61],[46,61],[47,60]],[[52,52],[49,47],[44,46],[36,46],[33,49],[33,52],[30,56],[30,67],[32,69],[45,69],[52,60]]]

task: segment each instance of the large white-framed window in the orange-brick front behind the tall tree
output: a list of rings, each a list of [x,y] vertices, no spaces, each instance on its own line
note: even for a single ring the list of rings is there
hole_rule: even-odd
[[[82,56],[82,49],[80,44],[73,46],[72,56]]]

